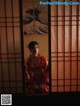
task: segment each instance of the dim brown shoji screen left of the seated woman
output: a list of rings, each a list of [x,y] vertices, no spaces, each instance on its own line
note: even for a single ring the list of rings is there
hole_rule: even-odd
[[[20,0],[0,0],[0,92],[22,92]]]

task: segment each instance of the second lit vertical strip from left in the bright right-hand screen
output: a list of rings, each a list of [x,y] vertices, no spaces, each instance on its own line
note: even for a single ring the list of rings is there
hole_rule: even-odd
[[[64,0],[61,0],[64,2]],[[61,91],[64,90],[64,71],[65,71],[65,62],[64,62],[64,51],[65,51],[65,23],[64,23],[64,5],[58,6],[58,79],[61,81]],[[59,61],[60,60],[60,61]],[[59,90],[60,91],[60,90]]]

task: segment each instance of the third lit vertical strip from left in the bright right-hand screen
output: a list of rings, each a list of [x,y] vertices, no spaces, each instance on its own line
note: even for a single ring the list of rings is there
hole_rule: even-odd
[[[65,6],[65,91],[70,91],[70,6]]]

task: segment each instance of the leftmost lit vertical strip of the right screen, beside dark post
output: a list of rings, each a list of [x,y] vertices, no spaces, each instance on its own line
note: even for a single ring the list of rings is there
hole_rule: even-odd
[[[51,6],[51,79],[52,91],[58,91],[58,6]]]

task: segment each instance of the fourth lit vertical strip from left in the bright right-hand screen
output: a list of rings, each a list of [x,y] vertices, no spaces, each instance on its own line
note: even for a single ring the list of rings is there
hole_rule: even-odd
[[[76,27],[76,20],[77,20],[77,14],[76,14],[76,5],[72,5],[72,77],[71,77],[71,91],[76,91],[76,75],[77,75],[77,27]]]

